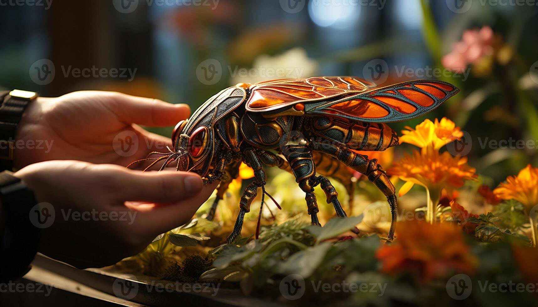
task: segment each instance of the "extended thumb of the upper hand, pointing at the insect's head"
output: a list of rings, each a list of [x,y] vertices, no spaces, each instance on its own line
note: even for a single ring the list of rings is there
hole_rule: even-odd
[[[186,104],[172,104],[159,99],[121,94],[117,97],[117,115],[127,124],[166,127],[189,117]]]

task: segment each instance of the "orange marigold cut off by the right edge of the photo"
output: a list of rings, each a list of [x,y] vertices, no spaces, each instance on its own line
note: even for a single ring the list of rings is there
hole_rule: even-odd
[[[538,205],[538,168],[527,165],[518,176],[508,176],[506,183],[499,184],[493,194],[501,199],[515,199],[522,203],[527,211]]]

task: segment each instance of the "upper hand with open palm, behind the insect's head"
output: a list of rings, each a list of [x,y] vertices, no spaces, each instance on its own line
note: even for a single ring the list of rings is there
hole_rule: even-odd
[[[136,124],[173,126],[189,112],[185,104],[118,92],[78,91],[57,98],[39,97],[30,103],[17,128],[16,140],[28,146],[15,147],[13,166],[20,169],[48,160],[127,166],[152,151],[167,152],[166,146],[172,145],[169,138]],[[118,140],[119,133],[133,140],[127,144],[130,150],[123,152],[126,154],[120,151],[123,140]]]

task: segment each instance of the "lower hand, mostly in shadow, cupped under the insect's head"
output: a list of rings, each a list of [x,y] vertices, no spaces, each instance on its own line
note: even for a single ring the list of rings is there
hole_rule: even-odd
[[[39,252],[78,268],[143,251],[158,234],[187,223],[217,184],[203,186],[194,173],[80,161],[34,163],[15,176],[33,190],[41,210],[54,214],[41,230]]]

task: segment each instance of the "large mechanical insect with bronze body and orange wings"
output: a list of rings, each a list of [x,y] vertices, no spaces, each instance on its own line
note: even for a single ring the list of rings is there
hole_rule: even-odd
[[[313,192],[317,185],[337,215],[346,216],[335,188],[325,177],[342,181],[338,169],[344,171],[345,167],[339,166],[345,165],[364,174],[387,197],[392,215],[387,239],[392,240],[397,217],[394,186],[377,159],[370,160],[356,151],[384,151],[398,145],[397,134],[386,123],[424,115],[457,92],[454,85],[435,80],[377,87],[343,76],[239,83],[209,98],[189,119],[176,125],[171,152],[143,160],[154,160],[148,168],[164,160],[161,169],[176,161],[177,170],[200,174],[204,183],[220,180],[208,219],[213,219],[218,201],[237,178],[240,163],[250,166],[255,180],[240,198],[239,215],[228,242],[240,234],[258,188],[262,189],[263,206],[267,194],[263,166],[295,175],[306,194],[312,224],[319,225]],[[327,160],[335,167],[316,169],[322,163],[327,165]]]

